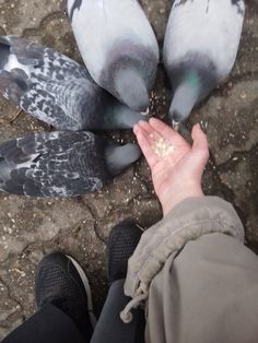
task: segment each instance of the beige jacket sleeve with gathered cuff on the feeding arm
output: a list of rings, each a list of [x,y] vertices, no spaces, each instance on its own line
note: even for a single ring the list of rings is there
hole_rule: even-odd
[[[148,343],[258,342],[258,258],[243,243],[233,206],[209,197],[144,233],[125,287],[146,301]]]

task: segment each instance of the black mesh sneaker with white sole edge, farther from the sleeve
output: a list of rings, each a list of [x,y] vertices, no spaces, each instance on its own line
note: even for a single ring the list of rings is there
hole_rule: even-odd
[[[79,263],[60,252],[44,257],[36,273],[36,306],[39,309],[49,303],[69,316],[90,341],[96,318],[89,281]]]

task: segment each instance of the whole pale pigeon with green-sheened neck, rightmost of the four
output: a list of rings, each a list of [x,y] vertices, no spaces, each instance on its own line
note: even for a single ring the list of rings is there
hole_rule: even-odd
[[[166,28],[163,59],[174,97],[169,119],[186,120],[235,63],[244,0],[176,0]]]

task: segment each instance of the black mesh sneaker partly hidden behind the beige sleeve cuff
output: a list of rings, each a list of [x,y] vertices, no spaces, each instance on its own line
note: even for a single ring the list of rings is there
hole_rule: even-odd
[[[107,243],[107,276],[114,281],[126,279],[127,264],[143,230],[132,222],[125,221],[112,229]]]

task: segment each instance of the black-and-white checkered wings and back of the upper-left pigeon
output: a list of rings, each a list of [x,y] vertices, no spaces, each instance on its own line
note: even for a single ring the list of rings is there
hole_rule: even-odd
[[[0,90],[15,105],[58,129],[80,130],[85,94],[96,91],[86,68],[68,57],[13,36],[9,63],[0,71]]]

